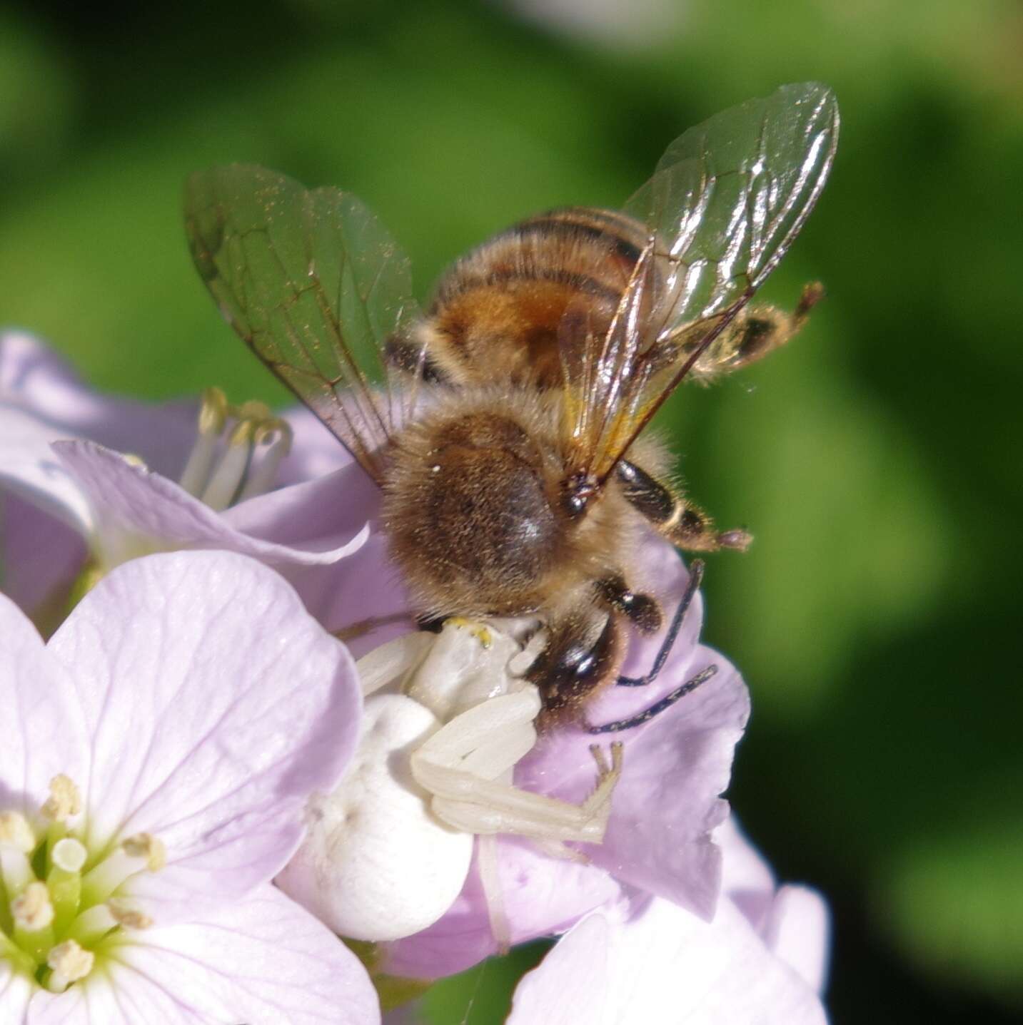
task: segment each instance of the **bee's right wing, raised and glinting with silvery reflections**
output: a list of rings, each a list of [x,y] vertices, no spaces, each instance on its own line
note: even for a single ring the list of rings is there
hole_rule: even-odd
[[[602,484],[661,403],[775,269],[827,178],[834,94],[785,85],[691,128],[626,206],[650,227],[605,333],[561,325],[570,471]]]

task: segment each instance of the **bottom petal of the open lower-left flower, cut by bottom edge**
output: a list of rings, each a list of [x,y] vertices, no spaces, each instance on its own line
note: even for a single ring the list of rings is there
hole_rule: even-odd
[[[378,1025],[365,969],[273,887],[189,924],[132,934],[100,978],[38,992],[26,1025]]]

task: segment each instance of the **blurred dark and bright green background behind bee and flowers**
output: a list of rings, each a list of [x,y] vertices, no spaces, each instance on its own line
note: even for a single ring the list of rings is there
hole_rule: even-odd
[[[820,278],[828,299],[666,418],[699,501],[757,537],[706,585],[706,636],[753,693],[731,796],[780,876],[831,901],[835,1022],[1018,1020],[1023,8],[521,6],[545,13],[0,6],[0,322],[104,388],[282,400],[189,262],[190,170],[343,184],[426,292],[517,217],[621,202],[710,114],[832,85],[831,181],[765,289]],[[429,1020],[499,1021],[539,952],[438,987]]]

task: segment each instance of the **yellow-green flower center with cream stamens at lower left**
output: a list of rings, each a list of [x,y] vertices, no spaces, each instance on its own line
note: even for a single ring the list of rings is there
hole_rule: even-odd
[[[55,993],[86,978],[114,936],[152,925],[117,891],[166,860],[149,833],[90,852],[80,838],[81,811],[78,787],[62,775],[37,824],[0,812],[0,957]]]

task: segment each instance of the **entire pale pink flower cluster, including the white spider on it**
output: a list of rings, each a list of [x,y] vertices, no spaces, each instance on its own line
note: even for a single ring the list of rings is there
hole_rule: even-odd
[[[415,632],[376,511],[308,414],[99,397],[0,335],[5,1020],[371,1025],[370,973],[561,936],[514,1025],[824,1021],[824,905],[720,796],[749,699],[699,593],[588,710],[635,725],[538,736],[530,631]]]

